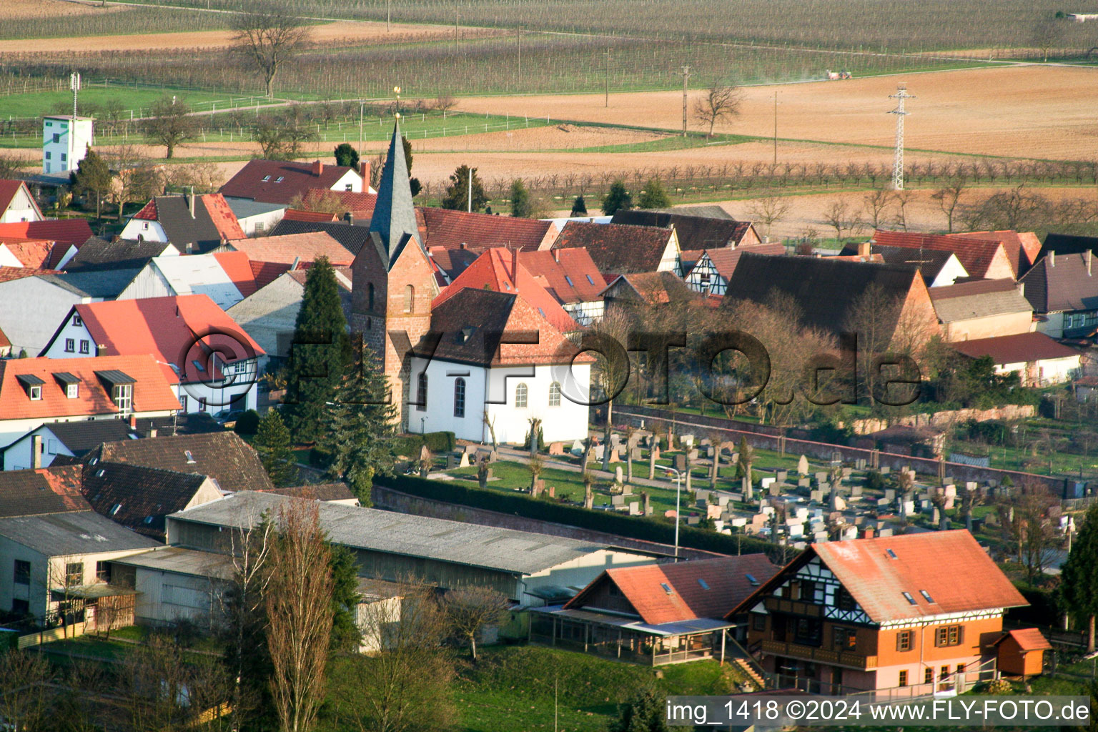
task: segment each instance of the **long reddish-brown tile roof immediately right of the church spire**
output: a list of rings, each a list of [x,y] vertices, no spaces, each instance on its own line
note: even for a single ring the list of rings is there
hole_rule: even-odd
[[[557,236],[552,222],[418,206],[426,227],[424,246],[447,249],[506,247],[529,251],[548,246]]]

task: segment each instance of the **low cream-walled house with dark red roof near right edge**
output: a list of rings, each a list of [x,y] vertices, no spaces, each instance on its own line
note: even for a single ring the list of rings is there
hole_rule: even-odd
[[[1082,351],[1056,342],[1043,333],[1022,333],[964,340],[953,348],[968,358],[990,358],[996,373],[1017,371],[1023,386],[1049,386],[1079,374]]]

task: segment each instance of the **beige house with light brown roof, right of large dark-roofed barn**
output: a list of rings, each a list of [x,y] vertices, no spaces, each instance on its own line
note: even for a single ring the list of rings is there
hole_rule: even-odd
[[[1013,280],[975,280],[930,289],[946,341],[1030,333],[1033,307]]]

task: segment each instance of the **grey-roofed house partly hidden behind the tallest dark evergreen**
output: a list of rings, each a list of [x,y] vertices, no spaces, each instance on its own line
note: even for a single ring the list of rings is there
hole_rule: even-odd
[[[307,274],[309,270],[301,269],[284,272],[226,311],[262,348],[265,356],[260,358],[260,369],[266,368],[270,359],[290,358],[290,345],[305,294]],[[348,319],[351,307],[349,274],[347,268],[336,269],[339,301]]]

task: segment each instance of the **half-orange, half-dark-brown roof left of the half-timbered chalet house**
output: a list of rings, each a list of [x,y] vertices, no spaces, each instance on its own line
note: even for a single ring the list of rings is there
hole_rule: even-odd
[[[604,571],[564,607],[584,607],[600,586],[610,582],[648,624],[719,619],[777,570],[765,554],[617,567]]]

